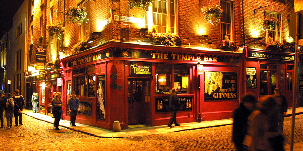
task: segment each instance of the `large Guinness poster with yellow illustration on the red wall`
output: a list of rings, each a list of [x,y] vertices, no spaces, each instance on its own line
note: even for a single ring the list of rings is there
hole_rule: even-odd
[[[237,99],[237,72],[205,71],[204,100]]]

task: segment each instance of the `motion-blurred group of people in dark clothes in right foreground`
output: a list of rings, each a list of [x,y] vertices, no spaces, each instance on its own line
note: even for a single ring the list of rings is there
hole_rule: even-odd
[[[258,101],[253,93],[241,97],[233,114],[232,140],[238,151],[284,151],[283,122],[287,100],[280,88]]]

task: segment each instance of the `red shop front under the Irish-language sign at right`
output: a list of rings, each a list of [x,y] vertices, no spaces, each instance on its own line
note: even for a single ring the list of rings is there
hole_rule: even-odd
[[[262,50],[246,50],[246,91],[258,98],[274,94],[280,88],[292,107],[295,54]],[[297,101],[298,107],[298,101]]]

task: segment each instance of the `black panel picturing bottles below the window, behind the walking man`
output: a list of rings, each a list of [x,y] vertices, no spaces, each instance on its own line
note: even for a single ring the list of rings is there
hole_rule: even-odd
[[[168,97],[166,98],[155,98],[156,112],[170,112]],[[180,97],[181,102],[178,111],[191,111],[192,110],[192,97]]]

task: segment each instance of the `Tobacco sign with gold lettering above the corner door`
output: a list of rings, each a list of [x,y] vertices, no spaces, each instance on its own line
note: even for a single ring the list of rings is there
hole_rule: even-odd
[[[129,75],[151,75],[152,64],[147,62],[129,62]]]

